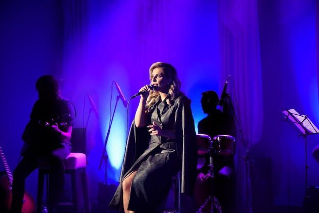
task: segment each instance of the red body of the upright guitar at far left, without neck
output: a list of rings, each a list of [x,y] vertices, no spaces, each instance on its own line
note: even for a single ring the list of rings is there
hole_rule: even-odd
[[[4,200],[4,209],[0,209],[0,212],[9,213],[11,209],[11,200],[12,200],[12,192],[11,192],[11,185],[8,179],[8,176],[3,176],[0,179],[0,184],[6,192],[5,200]],[[33,197],[26,191],[24,191],[23,196],[23,205],[22,205],[22,212],[21,213],[35,213],[36,212],[36,202],[34,201]]]

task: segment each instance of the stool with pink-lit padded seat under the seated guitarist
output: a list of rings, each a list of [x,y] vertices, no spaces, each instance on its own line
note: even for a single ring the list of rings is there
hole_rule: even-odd
[[[88,194],[88,185],[87,185],[87,173],[86,173],[86,155],[84,153],[79,152],[71,152],[64,160],[65,172],[64,174],[70,174],[71,176],[71,188],[72,188],[72,204],[73,204],[73,212],[78,213],[81,209],[79,209],[79,202],[77,200],[77,186],[76,186],[76,177],[77,174],[81,175],[81,184],[83,190],[83,201],[85,213],[90,212],[90,204],[89,204],[89,194]],[[39,161],[39,176],[38,176],[38,195],[37,195],[37,213],[42,211],[42,198],[43,198],[43,189],[44,189],[44,178],[46,176],[46,201],[49,199],[49,173],[50,167],[48,165],[47,159],[42,158]]]

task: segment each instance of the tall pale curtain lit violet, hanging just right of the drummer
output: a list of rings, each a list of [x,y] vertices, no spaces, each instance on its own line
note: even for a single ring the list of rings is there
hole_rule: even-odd
[[[220,85],[232,76],[228,81],[230,101],[239,130],[236,140],[237,209],[251,212],[249,148],[259,141],[263,120],[257,2],[221,0],[218,4],[221,76],[224,77]],[[227,108],[228,112],[230,110]]]

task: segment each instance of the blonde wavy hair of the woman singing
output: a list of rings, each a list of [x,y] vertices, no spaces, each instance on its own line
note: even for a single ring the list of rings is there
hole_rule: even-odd
[[[177,71],[176,71],[175,67],[173,67],[171,64],[164,63],[164,62],[156,62],[156,63],[152,64],[151,67],[149,68],[149,79],[151,81],[152,81],[152,77],[151,77],[152,72],[155,68],[162,68],[165,76],[170,79],[170,81],[169,81],[170,98],[167,98],[166,102],[167,102],[167,104],[172,105],[171,101],[175,100],[176,94],[180,93],[181,83],[178,79]],[[151,107],[155,103],[158,96],[159,96],[158,91],[151,90],[149,93],[149,96],[147,97],[147,100],[146,100],[147,107]]]

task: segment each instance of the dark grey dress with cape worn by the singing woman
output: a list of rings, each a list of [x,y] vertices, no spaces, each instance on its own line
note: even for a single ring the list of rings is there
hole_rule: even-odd
[[[197,168],[197,138],[190,100],[179,95],[169,106],[156,102],[149,110],[153,121],[165,130],[175,130],[176,140],[152,136],[147,127],[137,128],[132,122],[120,183],[110,207],[123,211],[122,180],[137,170],[131,185],[128,209],[142,212],[163,212],[172,177],[181,172],[181,193],[193,195]]]

